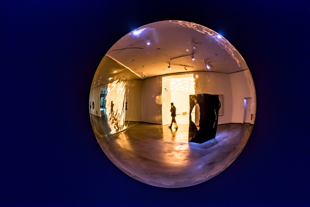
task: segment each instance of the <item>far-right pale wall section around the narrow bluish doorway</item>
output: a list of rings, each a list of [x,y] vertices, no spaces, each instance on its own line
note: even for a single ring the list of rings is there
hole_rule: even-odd
[[[244,116],[244,98],[253,97],[251,114],[253,118],[251,124],[254,124],[256,114],[256,94],[252,76],[249,70],[229,74],[232,87],[232,123],[242,123]]]

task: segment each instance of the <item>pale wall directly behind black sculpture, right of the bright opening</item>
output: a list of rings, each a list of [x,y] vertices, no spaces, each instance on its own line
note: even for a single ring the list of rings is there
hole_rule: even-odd
[[[223,115],[219,115],[218,124],[231,123],[232,88],[229,74],[215,72],[193,72],[196,94],[208,93],[223,95]]]

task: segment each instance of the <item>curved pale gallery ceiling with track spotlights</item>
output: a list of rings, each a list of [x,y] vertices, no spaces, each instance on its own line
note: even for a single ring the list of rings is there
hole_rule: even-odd
[[[192,54],[194,61],[187,56]],[[106,56],[141,78],[144,74],[143,79],[191,71],[229,74],[248,69],[239,52],[224,37],[204,26],[177,20],[155,22],[131,31]],[[169,63],[175,64],[171,70]],[[205,63],[210,65],[210,70]],[[185,70],[179,65],[192,67]]]

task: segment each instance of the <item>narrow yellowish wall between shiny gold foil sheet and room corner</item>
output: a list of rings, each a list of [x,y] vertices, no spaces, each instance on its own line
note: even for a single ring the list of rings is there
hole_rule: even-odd
[[[142,89],[143,80],[126,82],[126,101],[128,110],[125,110],[125,121],[143,121],[142,119]]]

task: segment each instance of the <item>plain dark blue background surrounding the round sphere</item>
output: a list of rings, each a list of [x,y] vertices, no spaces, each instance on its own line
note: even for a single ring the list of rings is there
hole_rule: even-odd
[[[237,160],[179,189],[117,169],[88,113],[104,54],[160,20],[223,35],[247,62],[257,92],[254,129]],[[0,205],[310,205],[309,21],[309,1],[2,0]]]

